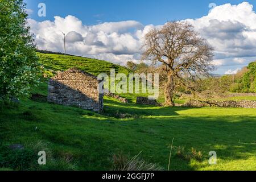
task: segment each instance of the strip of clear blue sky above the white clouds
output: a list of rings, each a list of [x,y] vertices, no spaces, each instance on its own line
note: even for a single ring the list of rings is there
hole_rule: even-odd
[[[238,4],[241,0],[26,0],[27,8],[34,10],[31,18],[53,20],[54,16],[74,15],[84,24],[137,20],[143,24],[164,24],[168,20],[200,18],[207,15],[210,3],[223,5]],[[36,14],[38,4],[46,3],[47,16]],[[247,1],[256,7],[256,1]]]

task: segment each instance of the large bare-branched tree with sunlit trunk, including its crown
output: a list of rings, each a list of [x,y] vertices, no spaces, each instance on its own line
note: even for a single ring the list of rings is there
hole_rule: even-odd
[[[209,75],[215,67],[211,63],[213,48],[187,22],[167,22],[161,28],[152,28],[144,36],[142,60],[162,64],[166,72],[165,105],[173,106],[175,78]]]

